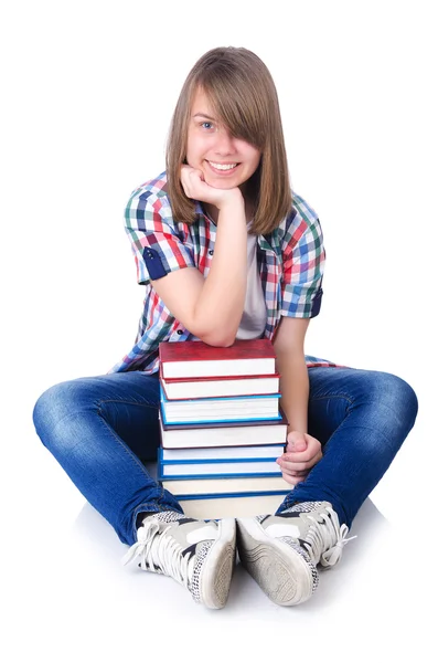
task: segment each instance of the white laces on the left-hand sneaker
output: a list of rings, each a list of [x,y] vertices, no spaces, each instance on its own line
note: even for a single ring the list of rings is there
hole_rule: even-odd
[[[122,564],[127,565],[139,557],[139,566],[143,570],[171,576],[177,582],[189,588],[191,555],[183,555],[181,545],[167,534],[171,527],[172,523],[145,523],[137,530],[137,543],[129,548]]]

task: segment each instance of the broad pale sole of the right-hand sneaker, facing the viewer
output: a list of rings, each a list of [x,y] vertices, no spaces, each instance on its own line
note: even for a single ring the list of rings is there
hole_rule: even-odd
[[[242,565],[277,606],[303,603],[318,587],[310,558],[268,536],[253,518],[237,519],[237,549]]]

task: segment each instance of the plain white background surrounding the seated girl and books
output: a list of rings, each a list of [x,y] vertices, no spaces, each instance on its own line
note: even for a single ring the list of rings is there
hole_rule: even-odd
[[[435,9],[40,0],[2,10],[4,661],[434,660]],[[307,351],[395,372],[420,403],[357,516],[359,538],[296,609],[270,603],[239,567],[221,612],[170,579],[120,568],[125,547],[31,419],[45,388],[104,373],[130,349],[142,288],[124,207],[163,170],[184,77],[218,45],[268,65],[293,187],[320,214],[328,266]]]

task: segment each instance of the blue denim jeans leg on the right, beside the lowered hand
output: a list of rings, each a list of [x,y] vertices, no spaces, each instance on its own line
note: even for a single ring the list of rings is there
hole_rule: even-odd
[[[372,370],[310,368],[309,380],[309,433],[323,456],[277,513],[327,501],[350,527],[413,428],[417,397],[400,378]]]

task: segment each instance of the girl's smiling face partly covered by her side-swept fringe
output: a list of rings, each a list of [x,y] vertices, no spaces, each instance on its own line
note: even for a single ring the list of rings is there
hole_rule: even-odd
[[[196,91],[189,120],[186,161],[202,170],[207,185],[216,189],[241,187],[255,173],[261,152],[235,138],[215,117],[202,88]]]

